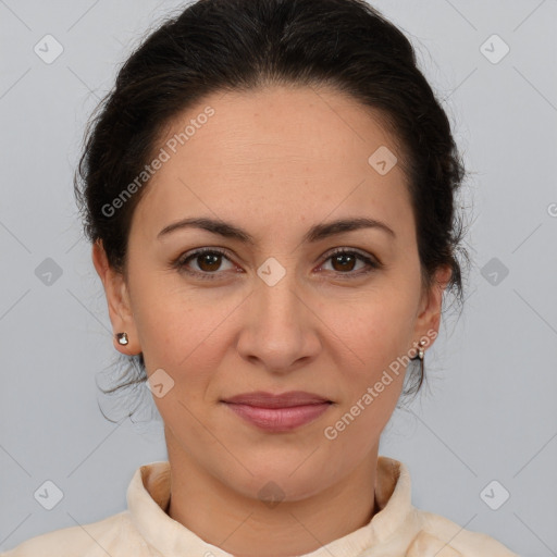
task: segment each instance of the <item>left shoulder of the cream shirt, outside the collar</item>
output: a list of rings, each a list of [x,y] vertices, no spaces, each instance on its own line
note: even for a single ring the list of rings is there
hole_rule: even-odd
[[[132,534],[132,535],[129,535]],[[134,543],[132,523],[127,511],[119,512],[97,522],[62,528],[30,537],[0,557],[116,557],[120,544],[125,541],[125,549],[138,552],[145,543]],[[135,553],[137,557],[147,553]]]

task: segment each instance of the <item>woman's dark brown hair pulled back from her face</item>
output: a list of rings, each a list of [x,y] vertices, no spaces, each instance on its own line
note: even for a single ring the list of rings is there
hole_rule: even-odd
[[[463,302],[458,256],[468,255],[456,193],[465,166],[410,41],[363,0],[198,0],[136,48],[89,120],[74,178],[85,234],[102,244],[109,264],[125,274],[147,185],[114,214],[103,207],[141,173],[173,119],[209,94],[272,85],[333,88],[379,114],[407,177],[422,287],[448,267],[446,290]],[[147,380],[143,354],[123,358],[125,381],[106,394]],[[423,373],[409,377],[405,395],[420,389]]]

